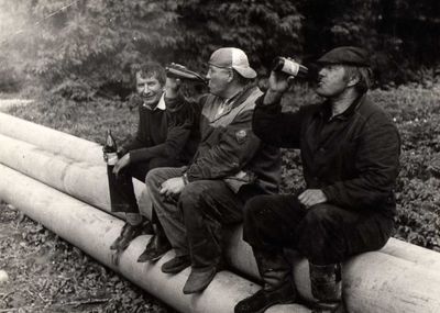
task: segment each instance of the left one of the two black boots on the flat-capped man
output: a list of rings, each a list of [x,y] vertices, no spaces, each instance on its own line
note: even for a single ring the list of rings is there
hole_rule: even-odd
[[[240,301],[234,308],[234,313],[262,313],[272,305],[295,302],[296,290],[292,268],[283,251],[254,249],[254,256],[264,282],[263,288]]]

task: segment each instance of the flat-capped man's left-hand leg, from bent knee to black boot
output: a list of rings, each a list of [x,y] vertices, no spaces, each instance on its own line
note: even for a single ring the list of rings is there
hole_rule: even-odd
[[[305,214],[294,195],[260,195],[246,203],[243,238],[253,248],[263,288],[240,301],[235,313],[264,312],[296,300],[290,264],[283,248],[294,241],[295,225]]]

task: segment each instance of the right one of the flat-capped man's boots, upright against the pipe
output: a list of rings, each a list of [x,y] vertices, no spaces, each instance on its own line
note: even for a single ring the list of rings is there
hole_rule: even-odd
[[[341,265],[314,265],[309,262],[311,293],[318,300],[314,313],[345,312],[342,303]]]

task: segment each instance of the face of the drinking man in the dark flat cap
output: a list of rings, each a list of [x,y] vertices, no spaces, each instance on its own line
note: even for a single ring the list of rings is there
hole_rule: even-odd
[[[348,79],[342,65],[324,65],[318,74],[316,92],[326,98],[337,97],[346,89]]]

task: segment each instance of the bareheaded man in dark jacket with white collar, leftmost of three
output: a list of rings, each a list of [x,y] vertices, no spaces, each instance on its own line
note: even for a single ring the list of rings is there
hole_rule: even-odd
[[[156,63],[147,63],[136,72],[136,94],[132,101],[139,108],[138,133],[119,150],[120,159],[109,177],[112,212],[125,212],[127,223],[110,249],[124,250],[143,228],[132,178],[144,181],[152,168],[186,165],[196,152],[198,125],[194,122],[193,108],[183,98],[169,99],[166,94],[178,83],[167,78]],[[152,215],[154,223],[154,211]],[[160,224],[151,242],[155,241],[169,247]]]

